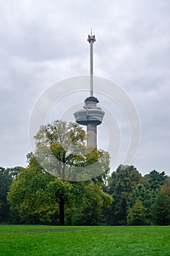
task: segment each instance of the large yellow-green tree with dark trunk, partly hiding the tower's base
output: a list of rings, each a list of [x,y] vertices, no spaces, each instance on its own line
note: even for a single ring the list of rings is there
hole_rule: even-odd
[[[90,182],[96,186],[94,195],[97,197],[98,191],[104,197],[101,186],[107,180],[109,154],[97,148],[87,148],[85,131],[74,123],[54,121],[40,127],[35,138],[35,154],[28,154],[28,167],[13,181],[9,203],[25,221],[36,223],[48,219],[49,222],[50,217],[58,213],[59,224],[64,225],[65,208],[73,204],[77,207],[73,195],[75,181],[93,177]],[[87,202],[89,191],[84,193]],[[98,205],[101,206],[103,203],[100,202]]]

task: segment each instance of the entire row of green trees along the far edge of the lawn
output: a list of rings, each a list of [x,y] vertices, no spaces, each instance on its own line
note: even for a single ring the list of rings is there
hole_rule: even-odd
[[[0,168],[0,222],[47,225],[169,225],[170,178],[142,176],[109,154],[85,147],[78,124],[39,129],[28,167]]]

